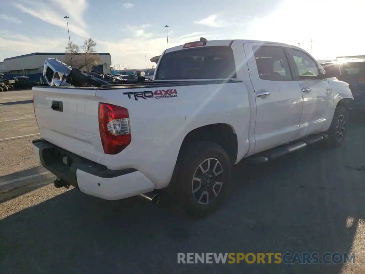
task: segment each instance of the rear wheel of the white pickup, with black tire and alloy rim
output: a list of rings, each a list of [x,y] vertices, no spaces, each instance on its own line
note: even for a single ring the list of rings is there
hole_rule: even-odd
[[[218,144],[199,141],[182,147],[174,193],[185,212],[192,217],[213,212],[227,193],[231,170],[230,159]]]

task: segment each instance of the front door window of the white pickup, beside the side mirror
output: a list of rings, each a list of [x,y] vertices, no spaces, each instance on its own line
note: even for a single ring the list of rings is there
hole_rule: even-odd
[[[289,49],[289,53],[298,69],[299,79],[316,78],[319,75],[317,63],[309,55],[295,49]]]

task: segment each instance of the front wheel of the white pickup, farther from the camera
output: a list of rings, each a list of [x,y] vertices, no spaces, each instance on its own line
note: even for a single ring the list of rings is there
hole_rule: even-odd
[[[330,128],[327,130],[328,138],[324,141],[327,148],[337,148],[345,140],[347,130],[347,110],[343,106],[336,107]]]

